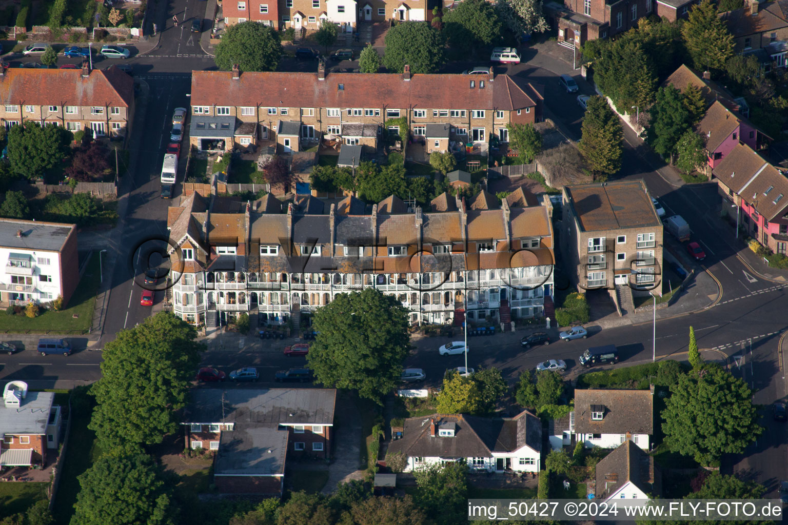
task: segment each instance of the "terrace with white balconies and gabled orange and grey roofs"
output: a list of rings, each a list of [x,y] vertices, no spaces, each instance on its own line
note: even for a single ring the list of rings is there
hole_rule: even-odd
[[[181,199],[168,216],[179,248],[169,293],[190,323],[258,312],[296,324],[336,294],[368,287],[402,301],[411,323],[552,314],[552,207],[522,188],[500,204],[486,191],[468,201],[444,193],[429,211],[393,195],[327,206],[268,194],[230,213],[221,197]]]

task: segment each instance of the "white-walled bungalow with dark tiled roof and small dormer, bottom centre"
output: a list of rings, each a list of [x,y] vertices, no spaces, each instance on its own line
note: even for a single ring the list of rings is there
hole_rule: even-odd
[[[406,472],[429,464],[465,461],[474,471],[538,472],[541,420],[524,410],[515,417],[466,415],[411,417],[387,456],[407,457]]]

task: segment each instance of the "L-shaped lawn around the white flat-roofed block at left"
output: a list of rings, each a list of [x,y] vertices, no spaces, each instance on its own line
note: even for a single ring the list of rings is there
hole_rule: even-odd
[[[109,268],[108,268],[109,271]],[[46,310],[38,317],[30,318],[19,313],[13,316],[0,313],[0,332],[46,334],[85,334],[93,324],[93,309],[96,290],[99,287],[99,253],[94,252],[87,263],[80,284],[76,287],[68,308],[55,312]],[[73,318],[74,315],[78,317]]]

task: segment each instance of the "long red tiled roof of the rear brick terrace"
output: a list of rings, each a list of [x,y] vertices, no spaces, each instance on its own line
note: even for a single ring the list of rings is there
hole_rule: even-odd
[[[322,108],[522,109],[536,105],[507,75],[479,75],[470,88],[466,75],[308,72],[191,72],[193,105],[290,106]],[[486,79],[480,88],[479,80]],[[340,84],[343,89],[339,89]],[[536,96],[536,95],[534,95]]]

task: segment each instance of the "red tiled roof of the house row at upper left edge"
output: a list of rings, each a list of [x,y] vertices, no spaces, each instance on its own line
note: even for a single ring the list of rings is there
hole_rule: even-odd
[[[81,69],[11,68],[0,76],[0,104],[129,107],[133,100],[134,81],[117,68],[87,78]]]

